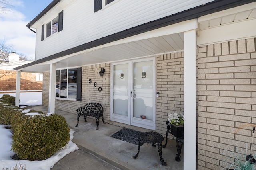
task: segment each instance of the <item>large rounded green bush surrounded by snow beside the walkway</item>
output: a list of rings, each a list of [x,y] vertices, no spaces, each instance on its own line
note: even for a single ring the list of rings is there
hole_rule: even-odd
[[[13,121],[13,150],[23,160],[45,160],[70,140],[70,129],[63,116],[16,115]]]

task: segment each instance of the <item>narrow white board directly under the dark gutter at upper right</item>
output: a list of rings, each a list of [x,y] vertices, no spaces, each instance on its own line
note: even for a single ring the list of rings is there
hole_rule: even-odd
[[[245,4],[245,5],[242,5],[242,6],[237,6],[237,7],[230,8],[230,9],[227,9],[227,10],[223,10],[223,11],[220,11],[220,12],[216,12],[216,13],[213,13],[213,14],[208,14],[208,15],[205,15],[205,16],[201,16],[201,17],[198,18],[197,21],[198,21],[198,23],[200,23],[200,22],[203,22],[203,21],[208,21],[208,20],[212,20],[212,19],[215,19],[215,18],[220,18],[220,17],[223,17],[223,16],[236,14],[238,12],[252,10],[254,8],[256,8],[256,2],[252,2],[250,4]]]

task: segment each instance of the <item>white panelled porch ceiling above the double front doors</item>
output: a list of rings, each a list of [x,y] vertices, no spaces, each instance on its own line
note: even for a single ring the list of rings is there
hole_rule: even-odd
[[[62,57],[56,62],[56,68],[78,67],[96,63],[106,63],[121,61],[136,57],[154,56],[184,49],[184,34],[175,33],[140,41],[122,43],[103,47],[92,51],[81,51],[68,57]],[[64,59],[63,59],[64,58]],[[44,72],[50,70],[48,62],[40,63],[28,68],[23,68],[22,72]]]

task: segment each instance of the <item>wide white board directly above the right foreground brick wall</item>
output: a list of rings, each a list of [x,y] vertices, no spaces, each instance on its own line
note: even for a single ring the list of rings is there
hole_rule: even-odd
[[[222,25],[199,32],[197,45],[208,45],[256,37],[256,19]]]

